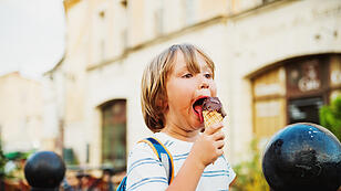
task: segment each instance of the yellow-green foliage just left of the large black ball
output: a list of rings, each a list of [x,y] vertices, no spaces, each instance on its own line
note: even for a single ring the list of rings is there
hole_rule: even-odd
[[[261,171],[260,151],[258,140],[251,142],[251,160],[234,167],[237,173],[234,191],[269,191],[269,185]]]

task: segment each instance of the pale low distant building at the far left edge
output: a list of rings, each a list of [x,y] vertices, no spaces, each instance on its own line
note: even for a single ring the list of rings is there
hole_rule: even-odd
[[[4,151],[28,151],[44,146],[41,88],[41,84],[17,72],[0,77],[0,126]]]

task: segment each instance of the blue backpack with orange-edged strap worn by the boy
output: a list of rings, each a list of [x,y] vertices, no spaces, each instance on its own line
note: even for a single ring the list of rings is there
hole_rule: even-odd
[[[164,168],[166,169],[166,173],[168,177],[168,184],[170,184],[174,178],[174,165],[173,165],[173,157],[170,152],[167,150],[167,148],[154,137],[148,137],[138,142],[146,142],[153,149],[154,153],[157,156],[158,160],[163,163]],[[125,190],[126,190],[126,177],[123,178],[116,191],[125,191]]]

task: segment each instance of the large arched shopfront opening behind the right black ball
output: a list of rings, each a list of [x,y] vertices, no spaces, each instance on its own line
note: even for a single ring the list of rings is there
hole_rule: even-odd
[[[341,54],[288,59],[258,71],[251,83],[256,137],[288,124],[319,124],[319,108],[341,93]]]

